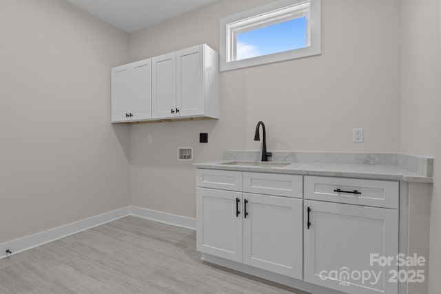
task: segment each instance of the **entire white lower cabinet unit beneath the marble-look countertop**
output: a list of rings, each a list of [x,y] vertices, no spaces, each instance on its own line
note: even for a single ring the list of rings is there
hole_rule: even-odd
[[[198,251],[311,293],[398,294],[398,182],[212,169],[196,178]]]

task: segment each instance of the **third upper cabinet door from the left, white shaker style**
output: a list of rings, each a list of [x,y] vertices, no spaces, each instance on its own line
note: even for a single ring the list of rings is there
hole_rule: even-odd
[[[152,117],[176,116],[176,52],[152,59]]]

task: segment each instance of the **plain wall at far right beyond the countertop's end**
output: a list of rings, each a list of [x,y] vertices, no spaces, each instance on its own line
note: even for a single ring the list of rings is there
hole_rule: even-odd
[[[435,157],[429,293],[441,289],[441,4],[402,0],[401,151]]]

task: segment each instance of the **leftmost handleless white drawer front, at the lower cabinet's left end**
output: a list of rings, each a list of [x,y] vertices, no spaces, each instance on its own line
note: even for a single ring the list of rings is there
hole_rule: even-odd
[[[196,186],[230,191],[242,191],[242,171],[196,169]]]

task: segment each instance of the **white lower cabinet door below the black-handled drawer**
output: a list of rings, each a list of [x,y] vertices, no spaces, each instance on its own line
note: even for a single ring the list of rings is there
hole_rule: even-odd
[[[305,282],[351,294],[398,293],[389,282],[398,271],[398,210],[313,200],[304,209]],[[393,260],[389,266],[378,257]]]

